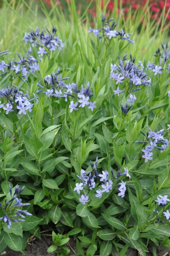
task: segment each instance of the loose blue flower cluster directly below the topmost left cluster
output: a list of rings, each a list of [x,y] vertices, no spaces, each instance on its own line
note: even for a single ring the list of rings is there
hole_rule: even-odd
[[[32,55],[26,55],[26,57],[21,58],[17,53],[19,60],[13,60],[12,63],[9,63],[9,70],[14,70],[15,77],[19,77],[23,82],[28,81],[28,76],[30,73],[34,73],[35,71],[39,71],[38,60],[34,58]],[[24,80],[25,79],[25,80]]]

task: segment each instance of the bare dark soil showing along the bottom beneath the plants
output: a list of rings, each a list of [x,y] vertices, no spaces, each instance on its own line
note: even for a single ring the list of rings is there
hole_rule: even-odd
[[[50,245],[52,245],[52,237],[49,235],[42,236],[41,239],[35,239],[34,241],[31,241],[30,244],[26,247],[25,250],[25,256],[56,256],[56,253],[47,253],[47,249]],[[76,250],[76,244],[74,239],[70,239],[68,247],[70,249],[69,256],[74,255]],[[150,252],[148,252],[147,256],[153,256],[153,248],[149,248]],[[170,256],[170,250],[165,249],[163,247],[157,247],[156,249],[156,256]],[[139,256],[138,251],[129,248],[127,253],[127,256]],[[2,253],[0,253],[0,256],[23,256],[23,253],[15,252],[9,248],[6,248]],[[118,256],[118,254],[115,256]]]

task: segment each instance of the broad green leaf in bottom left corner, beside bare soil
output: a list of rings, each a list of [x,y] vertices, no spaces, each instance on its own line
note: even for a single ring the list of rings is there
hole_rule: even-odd
[[[4,241],[8,247],[14,251],[23,252],[22,243],[19,236],[16,236],[12,233],[4,233]]]

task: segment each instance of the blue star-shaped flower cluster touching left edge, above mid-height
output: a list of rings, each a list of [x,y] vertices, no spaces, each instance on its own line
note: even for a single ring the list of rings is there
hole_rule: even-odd
[[[28,93],[24,94],[17,87],[8,87],[7,89],[2,89],[0,90],[0,98],[3,99],[3,103],[0,104],[0,108],[3,108],[6,111],[6,114],[13,111],[19,111],[19,114],[23,113],[26,115],[27,110],[29,112],[32,111],[34,104],[31,102],[34,100],[38,102],[38,99],[34,93],[33,95],[34,98],[30,99]]]

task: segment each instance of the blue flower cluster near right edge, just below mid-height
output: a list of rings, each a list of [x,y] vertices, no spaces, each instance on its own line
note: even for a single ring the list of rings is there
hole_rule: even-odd
[[[160,130],[160,131],[152,131],[150,128],[149,128],[149,132],[147,132],[147,136],[143,133],[143,131],[141,131],[141,133],[147,138],[150,140],[150,145],[147,145],[144,149],[142,149],[142,151],[144,152],[144,155],[142,155],[143,158],[145,158],[145,163],[147,163],[148,160],[152,160],[153,157],[153,153],[151,152],[153,150],[153,148],[158,148],[162,151],[164,151],[169,142],[167,139],[164,139],[164,130]],[[135,141],[137,143],[148,143],[149,141],[148,140],[145,140],[145,141]]]

